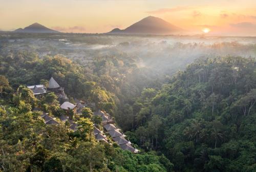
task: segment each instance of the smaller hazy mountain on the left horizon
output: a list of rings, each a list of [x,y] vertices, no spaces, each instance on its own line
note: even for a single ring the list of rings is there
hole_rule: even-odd
[[[34,23],[32,25],[29,25],[28,27],[22,29],[16,29],[15,31],[16,33],[59,33],[58,31],[49,29],[45,26],[42,26],[38,23]]]

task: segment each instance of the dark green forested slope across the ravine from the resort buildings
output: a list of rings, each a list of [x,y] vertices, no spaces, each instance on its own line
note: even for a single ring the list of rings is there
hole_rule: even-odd
[[[144,89],[119,122],[176,171],[255,171],[255,88],[254,59],[201,59],[161,90]]]

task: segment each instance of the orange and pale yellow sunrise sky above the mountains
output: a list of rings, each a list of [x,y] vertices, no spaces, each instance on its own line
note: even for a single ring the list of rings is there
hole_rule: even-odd
[[[189,33],[256,36],[255,0],[0,0],[0,30],[39,23],[61,32],[125,29],[149,15]]]

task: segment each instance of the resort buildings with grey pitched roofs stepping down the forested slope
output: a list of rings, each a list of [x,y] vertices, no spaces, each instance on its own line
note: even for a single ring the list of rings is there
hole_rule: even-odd
[[[86,103],[83,101],[80,101],[78,99],[75,99],[75,104],[72,104],[69,102],[69,98],[64,92],[64,88],[60,87],[60,85],[54,80],[53,77],[49,80],[49,87],[46,88],[45,85],[39,84],[39,85],[31,85],[28,86],[28,88],[33,92],[33,94],[40,98],[42,95],[48,93],[48,92],[54,92],[58,96],[58,101],[60,102],[60,108],[65,111],[73,111],[74,113],[81,113],[81,110],[83,107],[87,106]],[[90,103],[90,105],[94,105],[95,103]],[[125,135],[120,132],[120,129],[117,128],[114,125],[114,120],[110,117],[109,114],[104,113],[103,111],[96,111],[94,112],[95,116],[100,116],[102,118],[102,125],[106,133],[108,133],[113,141],[115,141],[122,149],[124,150],[130,150],[133,153],[138,153],[139,150],[135,149],[130,141],[127,141],[125,139]],[[72,119],[69,119],[66,115],[61,115],[57,118],[53,118],[49,116],[47,113],[43,113],[41,115],[41,118],[44,119],[46,124],[59,124],[58,121],[61,121],[63,123],[68,122],[70,125],[70,129],[73,131],[77,131],[78,125],[76,122],[74,122]],[[94,136],[96,140],[101,140],[106,143],[108,142],[108,139],[106,135],[104,135],[104,132],[100,131],[97,127],[94,126]]]

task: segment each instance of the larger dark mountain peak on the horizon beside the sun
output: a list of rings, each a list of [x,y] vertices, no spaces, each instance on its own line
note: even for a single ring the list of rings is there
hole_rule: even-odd
[[[113,29],[109,33],[124,33],[124,34],[177,34],[184,32],[183,29],[172,25],[165,20],[148,16],[139,22],[127,27],[124,30],[119,28]]]

